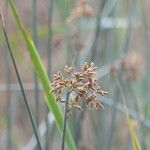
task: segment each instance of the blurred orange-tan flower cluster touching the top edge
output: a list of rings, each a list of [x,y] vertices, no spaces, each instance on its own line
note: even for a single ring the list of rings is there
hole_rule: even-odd
[[[81,16],[89,17],[93,14],[93,9],[87,4],[87,0],[78,0],[77,6],[71,11],[67,18],[67,23],[71,23]]]

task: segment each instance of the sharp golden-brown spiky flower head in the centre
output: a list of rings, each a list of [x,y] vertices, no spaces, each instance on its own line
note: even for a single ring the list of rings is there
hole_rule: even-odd
[[[91,63],[90,66],[85,63],[80,71],[75,71],[73,67],[65,66],[64,71],[67,74],[67,78],[65,78],[61,72],[54,74],[52,91],[57,96],[56,100],[64,102],[62,93],[66,89],[71,95],[71,100],[67,107],[68,113],[73,108],[82,110],[80,106],[81,102],[85,102],[89,109],[104,108],[98,101],[97,95],[105,96],[108,93],[101,90],[101,87],[97,84],[96,69],[97,67],[94,63]]]

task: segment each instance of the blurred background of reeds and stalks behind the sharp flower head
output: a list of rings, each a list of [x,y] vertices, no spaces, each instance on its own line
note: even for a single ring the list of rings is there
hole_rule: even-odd
[[[130,150],[124,101],[142,150],[150,148],[150,2],[148,0],[13,0],[50,81],[65,65],[94,62],[108,96],[100,110],[74,110],[68,119],[79,150]],[[6,31],[43,149],[61,145],[54,117],[7,0],[0,1]],[[0,24],[0,149],[38,149]],[[63,104],[62,104],[63,106]],[[62,109],[63,110],[63,109]]]

